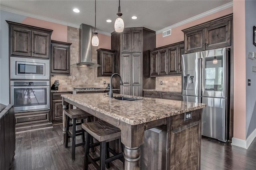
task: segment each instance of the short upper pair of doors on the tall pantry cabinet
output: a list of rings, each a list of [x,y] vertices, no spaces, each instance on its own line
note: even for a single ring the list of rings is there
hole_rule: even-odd
[[[142,30],[126,30],[122,33],[122,53],[140,53],[142,51]]]

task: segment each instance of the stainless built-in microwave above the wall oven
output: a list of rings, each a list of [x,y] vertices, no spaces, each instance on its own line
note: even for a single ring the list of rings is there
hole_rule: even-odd
[[[10,57],[10,79],[49,79],[49,60]]]

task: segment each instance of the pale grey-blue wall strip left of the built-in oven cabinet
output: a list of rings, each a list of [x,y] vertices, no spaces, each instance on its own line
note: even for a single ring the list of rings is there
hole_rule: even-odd
[[[22,22],[26,16],[0,10],[0,103],[9,104],[9,28],[5,20]]]

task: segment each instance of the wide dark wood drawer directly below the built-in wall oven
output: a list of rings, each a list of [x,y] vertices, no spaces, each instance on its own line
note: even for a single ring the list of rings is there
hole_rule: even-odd
[[[49,121],[49,111],[47,112],[38,112],[32,113],[21,113],[15,116],[17,125],[31,124],[31,123],[40,123]]]

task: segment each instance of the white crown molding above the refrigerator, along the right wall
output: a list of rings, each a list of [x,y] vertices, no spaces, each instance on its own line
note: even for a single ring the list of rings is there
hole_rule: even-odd
[[[171,25],[171,26],[168,26],[168,27],[166,27],[166,28],[162,28],[161,30],[156,31],[156,34],[159,34],[159,33],[161,33],[161,32],[170,30],[170,29],[172,29],[172,28],[175,28],[175,27],[178,27],[178,26],[187,24],[187,23],[192,22],[192,21],[194,21],[194,20],[198,20],[198,19],[200,19],[200,18],[203,18],[203,17],[208,16],[208,15],[210,15],[210,14],[214,14],[215,12],[219,12],[219,11],[225,10],[225,9],[230,8],[230,7],[232,7],[232,6],[233,6],[233,2],[228,2],[227,4],[224,4],[224,5],[222,5],[222,6],[219,6],[219,7],[217,7],[217,8],[214,8],[214,9],[212,9],[212,10],[203,12],[202,14],[198,14],[198,15],[196,15],[196,16],[193,16],[193,17],[191,17],[191,18],[188,18],[188,19],[186,19],[186,20],[183,20],[183,21],[181,21],[181,22],[178,22],[178,23],[176,23],[176,24],[173,24],[173,25]]]

